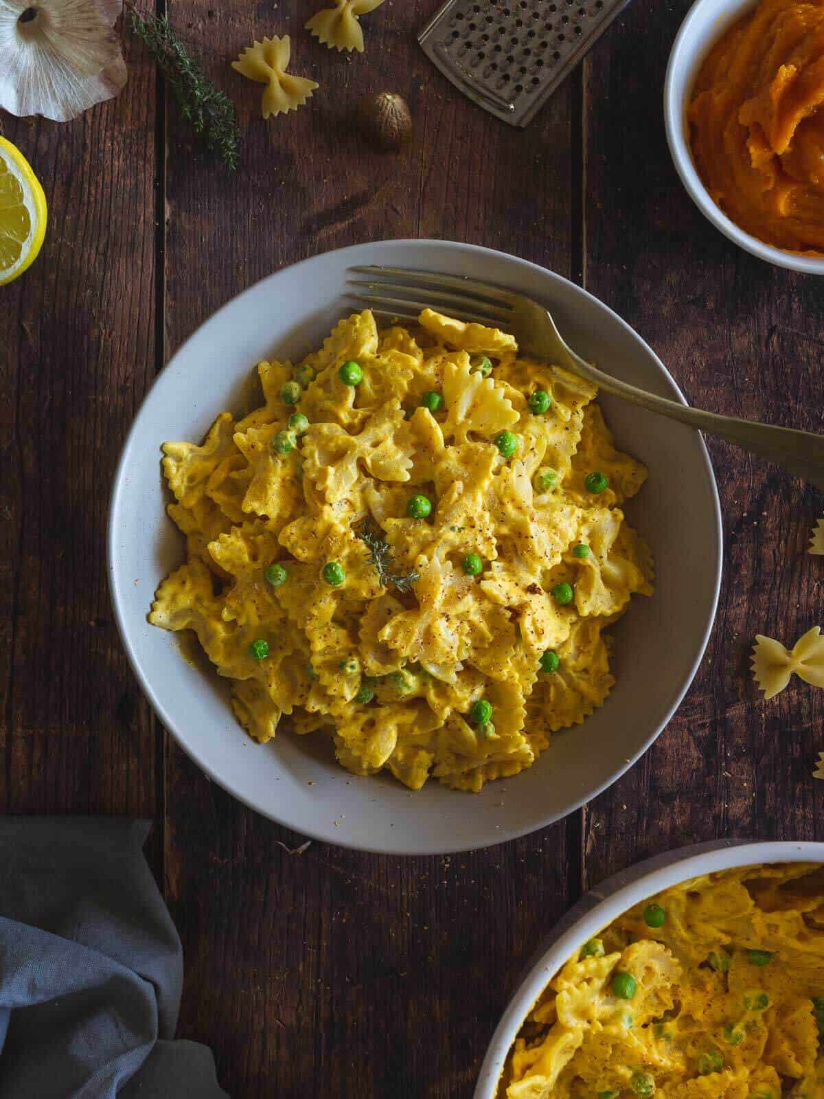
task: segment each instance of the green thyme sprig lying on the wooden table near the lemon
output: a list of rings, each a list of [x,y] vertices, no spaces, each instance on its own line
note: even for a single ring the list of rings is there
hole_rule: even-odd
[[[180,113],[191,124],[201,145],[234,170],[241,132],[232,100],[189,54],[166,15],[158,18],[135,8],[131,8],[130,14],[132,33],[143,42],[166,77]]]

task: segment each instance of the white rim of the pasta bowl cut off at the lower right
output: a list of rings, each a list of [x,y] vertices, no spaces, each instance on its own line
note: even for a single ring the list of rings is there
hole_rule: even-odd
[[[538,947],[492,1035],[474,1099],[497,1099],[512,1043],[541,993],[564,963],[633,904],[701,874],[758,863],[824,863],[824,843],[722,840],[668,851],[608,878],[586,893]]]

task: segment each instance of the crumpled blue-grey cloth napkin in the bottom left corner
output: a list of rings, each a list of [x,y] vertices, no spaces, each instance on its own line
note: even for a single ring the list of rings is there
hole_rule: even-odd
[[[229,1099],[172,1042],[183,956],[147,821],[0,818],[0,1099]]]

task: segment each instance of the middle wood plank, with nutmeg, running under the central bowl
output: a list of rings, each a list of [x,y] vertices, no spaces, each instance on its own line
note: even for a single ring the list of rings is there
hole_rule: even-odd
[[[370,238],[452,237],[570,271],[574,86],[513,131],[419,51],[432,3],[364,16],[367,53],[354,58],[300,30],[316,7],[172,0],[174,23],[240,104],[244,147],[236,176],[193,163],[172,115],[167,354],[282,264]],[[293,70],[321,88],[264,123],[260,88],[227,60],[275,33],[291,34]],[[368,149],[353,129],[359,97],[381,88],[414,115],[400,155]],[[579,818],[452,859],[316,843],[289,855],[281,845],[299,837],[232,801],[174,745],[167,770],[167,896],[190,975],[181,1028],[215,1050],[223,1086],[244,1097],[471,1095],[521,966],[578,889]]]

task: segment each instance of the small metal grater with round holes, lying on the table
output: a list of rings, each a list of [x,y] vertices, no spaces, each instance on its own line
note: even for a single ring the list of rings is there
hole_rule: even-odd
[[[419,35],[474,102],[525,126],[628,0],[447,0]]]

